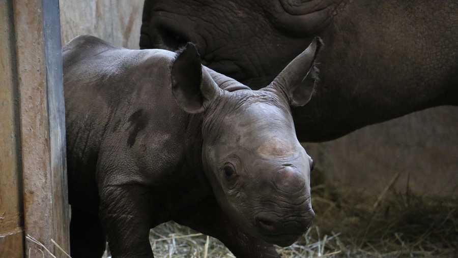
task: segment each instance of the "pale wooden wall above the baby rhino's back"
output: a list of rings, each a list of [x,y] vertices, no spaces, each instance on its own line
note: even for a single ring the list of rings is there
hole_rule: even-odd
[[[62,44],[89,34],[116,46],[138,49],[144,0],[60,0]]]

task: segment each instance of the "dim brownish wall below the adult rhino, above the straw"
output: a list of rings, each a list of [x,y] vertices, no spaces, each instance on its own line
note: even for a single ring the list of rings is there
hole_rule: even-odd
[[[316,161],[316,173],[336,185],[377,196],[399,173],[397,192],[456,198],[457,126],[456,107],[436,107],[304,147]]]

